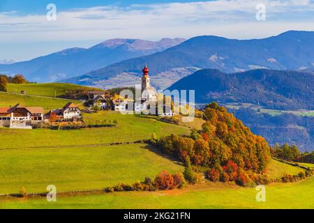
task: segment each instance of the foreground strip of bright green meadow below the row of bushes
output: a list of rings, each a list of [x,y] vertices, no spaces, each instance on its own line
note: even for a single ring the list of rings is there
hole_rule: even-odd
[[[266,186],[266,201],[257,202],[255,188],[221,183],[195,185],[165,192],[120,192],[82,197],[10,199],[0,208],[314,208],[314,178]]]

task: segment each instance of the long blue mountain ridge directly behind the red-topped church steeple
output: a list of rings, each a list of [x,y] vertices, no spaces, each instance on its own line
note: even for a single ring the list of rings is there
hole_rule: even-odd
[[[180,78],[202,68],[216,68],[223,72],[257,68],[312,69],[314,31],[287,31],[278,36],[253,40],[197,36],[163,52],[114,63],[64,82],[103,89],[132,86],[140,82],[144,63],[151,70],[151,83],[158,89],[166,89]]]

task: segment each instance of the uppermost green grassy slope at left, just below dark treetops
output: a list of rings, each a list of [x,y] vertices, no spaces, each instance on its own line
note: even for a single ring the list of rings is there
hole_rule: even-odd
[[[48,83],[48,84],[8,84],[10,93],[27,91],[29,95],[42,95],[47,97],[60,97],[73,90],[90,90],[91,88],[76,84]]]

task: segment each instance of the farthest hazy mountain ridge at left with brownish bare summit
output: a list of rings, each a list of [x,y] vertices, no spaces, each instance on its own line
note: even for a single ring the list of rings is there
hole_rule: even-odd
[[[88,49],[74,47],[31,61],[0,64],[0,73],[22,73],[31,81],[55,82],[126,59],[154,54],[183,41],[182,38],[163,38],[156,42],[138,39],[106,40]]]

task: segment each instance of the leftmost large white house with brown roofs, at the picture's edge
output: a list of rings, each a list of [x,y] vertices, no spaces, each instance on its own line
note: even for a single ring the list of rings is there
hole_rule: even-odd
[[[30,128],[32,123],[44,120],[43,107],[14,107],[0,108],[0,127]]]

